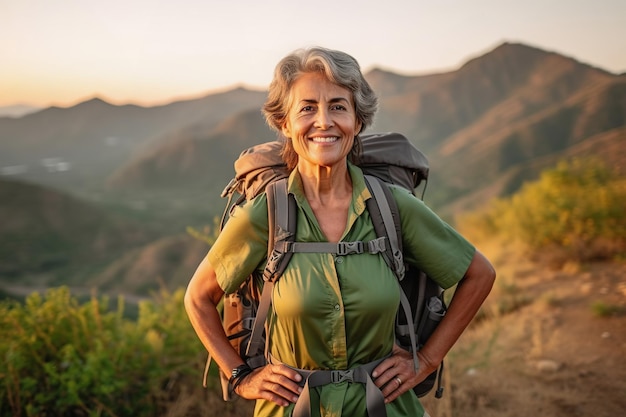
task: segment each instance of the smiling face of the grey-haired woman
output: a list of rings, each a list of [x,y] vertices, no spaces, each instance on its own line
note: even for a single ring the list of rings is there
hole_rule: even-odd
[[[361,129],[350,90],[323,74],[305,73],[293,84],[282,132],[291,138],[298,165],[345,163]]]

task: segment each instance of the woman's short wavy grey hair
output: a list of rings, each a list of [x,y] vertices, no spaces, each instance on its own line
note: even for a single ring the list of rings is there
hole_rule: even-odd
[[[274,78],[262,109],[265,120],[272,129],[281,134],[289,113],[293,84],[300,75],[312,72],[324,74],[330,82],[352,92],[356,117],[362,125],[361,131],[372,125],[378,109],[378,98],[365,80],[357,60],[345,52],[312,47],[298,49],[276,65]],[[360,140],[357,135],[351,159],[357,159],[359,152]],[[284,141],[282,156],[289,169],[295,168],[298,156],[290,140]]]

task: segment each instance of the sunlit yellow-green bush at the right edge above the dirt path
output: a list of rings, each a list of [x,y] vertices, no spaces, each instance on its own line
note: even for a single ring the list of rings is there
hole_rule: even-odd
[[[626,246],[626,179],[595,159],[561,162],[510,198],[458,223],[469,236],[518,240],[566,259],[608,258]]]

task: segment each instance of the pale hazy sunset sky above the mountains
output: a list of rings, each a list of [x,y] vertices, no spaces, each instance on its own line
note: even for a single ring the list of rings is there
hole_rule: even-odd
[[[364,70],[448,71],[504,41],[621,73],[626,0],[0,0],[0,106],[264,89],[310,45]]]

